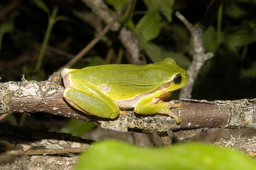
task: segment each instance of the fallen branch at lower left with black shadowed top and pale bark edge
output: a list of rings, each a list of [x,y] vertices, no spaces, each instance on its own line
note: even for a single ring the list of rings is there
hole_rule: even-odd
[[[0,123],[0,140],[20,144],[22,150],[6,151],[7,155],[49,155],[80,153],[93,142],[67,133],[56,133],[29,127]]]

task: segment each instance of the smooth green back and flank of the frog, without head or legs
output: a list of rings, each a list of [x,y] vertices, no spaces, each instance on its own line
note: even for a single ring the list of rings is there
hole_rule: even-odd
[[[74,71],[76,78],[94,86],[108,86],[105,94],[111,98],[134,98],[170,81],[170,65],[162,62],[146,65],[108,64],[90,66]]]

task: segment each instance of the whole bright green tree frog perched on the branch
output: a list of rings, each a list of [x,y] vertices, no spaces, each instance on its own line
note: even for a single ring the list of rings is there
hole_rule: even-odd
[[[159,63],[109,64],[83,69],[63,69],[66,101],[87,114],[116,118],[121,110],[134,108],[139,114],[167,114],[180,122],[169,108],[182,104],[163,102],[188,80],[186,71],[171,58]],[[181,80],[180,80],[181,78]]]

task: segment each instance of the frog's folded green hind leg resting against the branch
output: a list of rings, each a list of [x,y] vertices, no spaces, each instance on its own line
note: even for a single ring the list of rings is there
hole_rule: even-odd
[[[66,101],[76,109],[102,118],[116,118],[119,107],[95,86],[76,80],[65,84],[67,89],[63,93]]]

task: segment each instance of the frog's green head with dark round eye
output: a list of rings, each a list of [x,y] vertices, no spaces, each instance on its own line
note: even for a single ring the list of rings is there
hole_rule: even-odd
[[[160,63],[163,63],[169,77],[165,91],[172,92],[186,85],[188,81],[186,70],[180,68],[172,58],[166,58]]]

